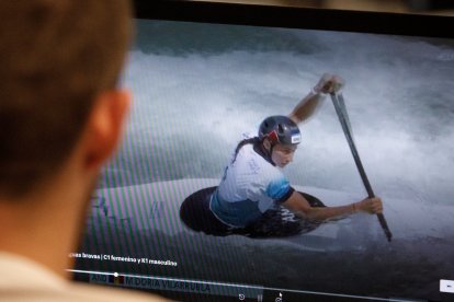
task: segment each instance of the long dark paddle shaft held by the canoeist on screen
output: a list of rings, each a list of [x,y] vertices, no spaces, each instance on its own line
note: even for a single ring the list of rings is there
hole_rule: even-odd
[[[342,96],[340,96],[342,97]],[[343,112],[340,104],[340,97],[337,94],[331,94],[332,103],[334,104],[336,113],[338,115],[339,121],[342,126],[343,133],[345,135],[347,142],[349,143],[350,151],[352,152],[354,163],[356,164],[357,171],[360,172],[361,179],[363,181],[364,187],[367,191],[368,198],[374,198],[375,194],[372,189],[371,183],[368,182],[367,175],[364,171],[363,163],[361,162],[360,154],[357,153],[356,146],[354,144],[352,132],[349,127],[347,112]],[[343,101],[343,98],[342,98]],[[385,216],[383,213],[377,213],[378,222],[382,225],[383,231],[385,232],[386,239],[391,240],[393,234],[388,228]]]

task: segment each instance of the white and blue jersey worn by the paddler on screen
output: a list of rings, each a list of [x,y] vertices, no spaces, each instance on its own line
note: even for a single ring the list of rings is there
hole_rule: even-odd
[[[231,160],[226,167],[212,196],[209,209],[225,224],[243,228],[287,200],[292,193],[293,188],[282,171],[248,143],[239,150],[235,162]]]

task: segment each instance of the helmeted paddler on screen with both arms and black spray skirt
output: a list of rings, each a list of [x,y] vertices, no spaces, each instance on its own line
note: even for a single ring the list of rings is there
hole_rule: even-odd
[[[288,116],[266,117],[256,136],[243,135],[219,186],[196,191],[183,201],[182,221],[206,234],[269,237],[308,232],[326,220],[356,212],[381,213],[378,197],[327,207],[316,197],[295,190],[282,171],[302,141],[297,125],[343,84],[340,77],[324,74]]]

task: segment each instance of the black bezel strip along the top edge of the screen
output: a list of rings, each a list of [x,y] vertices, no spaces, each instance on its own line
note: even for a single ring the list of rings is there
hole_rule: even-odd
[[[454,18],[445,15],[173,0],[135,0],[134,5],[137,19],[454,37]]]

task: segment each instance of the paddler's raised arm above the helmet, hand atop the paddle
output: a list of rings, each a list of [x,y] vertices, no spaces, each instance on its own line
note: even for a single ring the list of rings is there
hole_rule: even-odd
[[[321,104],[326,94],[339,92],[343,84],[344,81],[340,77],[325,73],[317,85],[295,106],[288,117],[296,124],[305,121]]]

